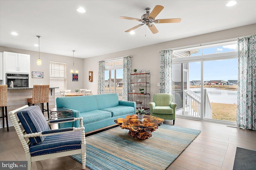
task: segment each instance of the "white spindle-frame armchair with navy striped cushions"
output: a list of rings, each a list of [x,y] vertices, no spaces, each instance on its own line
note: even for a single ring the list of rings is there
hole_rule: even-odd
[[[28,105],[10,111],[9,115],[25,151],[28,170],[31,169],[32,162],[73,154],[82,154],[82,169],[85,170],[86,141],[82,117],[46,121],[39,106]],[[76,120],[80,120],[80,127],[53,130],[49,127],[55,123]]]

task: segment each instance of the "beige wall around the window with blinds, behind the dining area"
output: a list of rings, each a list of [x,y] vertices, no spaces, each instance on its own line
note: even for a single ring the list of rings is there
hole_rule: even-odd
[[[33,87],[34,84],[49,84],[50,82],[50,72],[49,72],[49,62],[56,61],[66,63],[67,66],[67,89],[71,89],[74,92],[75,88],[84,88],[84,72],[83,72],[83,60],[80,58],[74,57],[75,68],[78,69],[78,82],[72,82],[72,74],[70,70],[73,66],[73,58],[62,56],[62,55],[54,55],[49,53],[41,53],[40,59],[42,60],[42,65],[38,66],[36,61],[38,59],[38,51],[28,51],[23,49],[15,49],[10,47],[0,46],[0,52],[13,52],[13,53],[22,53],[30,55],[30,74],[32,71],[44,72],[44,78],[31,78],[30,76],[30,87]],[[70,54],[73,52],[70,50]],[[2,67],[2,66],[1,66]]]

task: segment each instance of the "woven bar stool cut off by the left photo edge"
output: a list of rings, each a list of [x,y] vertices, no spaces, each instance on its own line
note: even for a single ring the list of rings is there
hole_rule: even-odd
[[[4,118],[6,119],[7,131],[9,131],[8,125],[8,113],[7,113],[7,85],[0,85],[0,107],[2,107],[2,115],[0,118],[3,118],[3,128],[4,128]],[[5,113],[4,113],[5,110]]]

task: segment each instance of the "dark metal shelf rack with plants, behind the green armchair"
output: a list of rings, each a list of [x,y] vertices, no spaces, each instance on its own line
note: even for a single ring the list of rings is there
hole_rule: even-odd
[[[132,76],[132,101],[136,102],[136,107],[149,109],[150,102],[150,71],[144,69],[131,73]],[[142,90],[143,89],[143,90]]]

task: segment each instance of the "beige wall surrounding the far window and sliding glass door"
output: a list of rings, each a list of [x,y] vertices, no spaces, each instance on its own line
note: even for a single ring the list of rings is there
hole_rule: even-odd
[[[168,41],[168,42],[159,43],[155,45],[148,45],[145,47],[139,47],[139,48],[129,49],[125,51],[119,51],[116,53],[110,53],[106,55],[86,58],[84,59],[84,73],[85,73],[84,88],[92,89],[92,92],[94,94],[97,94],[98,61],[130,55],[132,56],[132,68],[150,70],[150,74],[151,74],[150,97],[152,101],[153,94],[159,92],[159,87],[157,86],[157,83],[160,81],[159,51],[163,49],[174,49],[178,47],[194,46],[194,45],[200,45],[200,44],[209,43],[209,42],[237,39],[238,37],[244,37],[244,36],[254,35],[254,34],[256,34],[256,24],[246,25],[243,27],[237,27],[233,29],[227,29],[227,30],[203,34],[203,35],[197,35],[194,37],[188,37],[188,38],[178,39],[174,41]],[[100,50],[100,47],[99,47],[99,50]],[[88,81],[88,71],[93,71],[94,73],[93,82]]]

